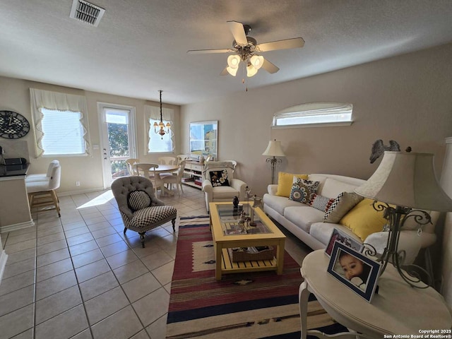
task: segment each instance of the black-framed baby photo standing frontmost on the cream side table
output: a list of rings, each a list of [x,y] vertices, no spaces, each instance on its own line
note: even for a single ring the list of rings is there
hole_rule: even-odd
[[[334,242],[328,273],[359,297],[371,302],[379,279],[381,264],[342,242]]]

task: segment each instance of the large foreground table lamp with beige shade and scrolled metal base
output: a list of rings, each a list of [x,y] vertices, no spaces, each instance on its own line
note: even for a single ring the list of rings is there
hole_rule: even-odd
[[[415,265],[403,266],[404,251],[398,251],[401,227],[408,218],[414,218],[422,227],[431,222],[426,210],[452,211],[452,200],[441,189],[434,172],[433,154],[388,152],[374,174],[355,192],[365,198],[374,199],[374,209],[383,210],[388,220],[388,242],[379,261],[383,263],[381,273],[388,265],[398,270],[400,276],[413,287],[427,288],[432,278],[423,268]],[[420,285],[421,271],[428,279],[427,286]]]

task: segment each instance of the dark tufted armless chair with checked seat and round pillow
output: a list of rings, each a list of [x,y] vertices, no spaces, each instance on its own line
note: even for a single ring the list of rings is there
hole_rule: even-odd
[[[155,196],[149,179],[138,176],[117,178],[112,183],[112,192],[124,222],[124,234],[129,229],[138,232],[143,247],[148,230],[171,221],[175,231],[177,210]]]

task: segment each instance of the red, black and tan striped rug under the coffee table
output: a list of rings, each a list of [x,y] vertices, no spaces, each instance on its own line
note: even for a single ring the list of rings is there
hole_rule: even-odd
[[[181,218],[167,317],[167,339],[300,338],[299,265],[285,252],[274,271],[223,275],[215,280],[208,216]],[[312,295],[311,295],[312,297]],[[308,327],[346,331],[313,298]]]

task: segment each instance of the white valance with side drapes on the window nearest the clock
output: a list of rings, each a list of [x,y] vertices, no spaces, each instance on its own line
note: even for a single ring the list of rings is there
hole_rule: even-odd
[[[32,110],[32,123],[35,127],[35,155],[41,157],[44,154],[42,148],[42,109],[53,109],[57,111],[80,112],[81,125],[83,126],[83,140],[85,141],[85,153],[90,154],[90,141],[88,134],[88,105],[83,95],[71,95],[66,93],[52,92],[49,90],[37,90],[30,88],[30,105]]]

